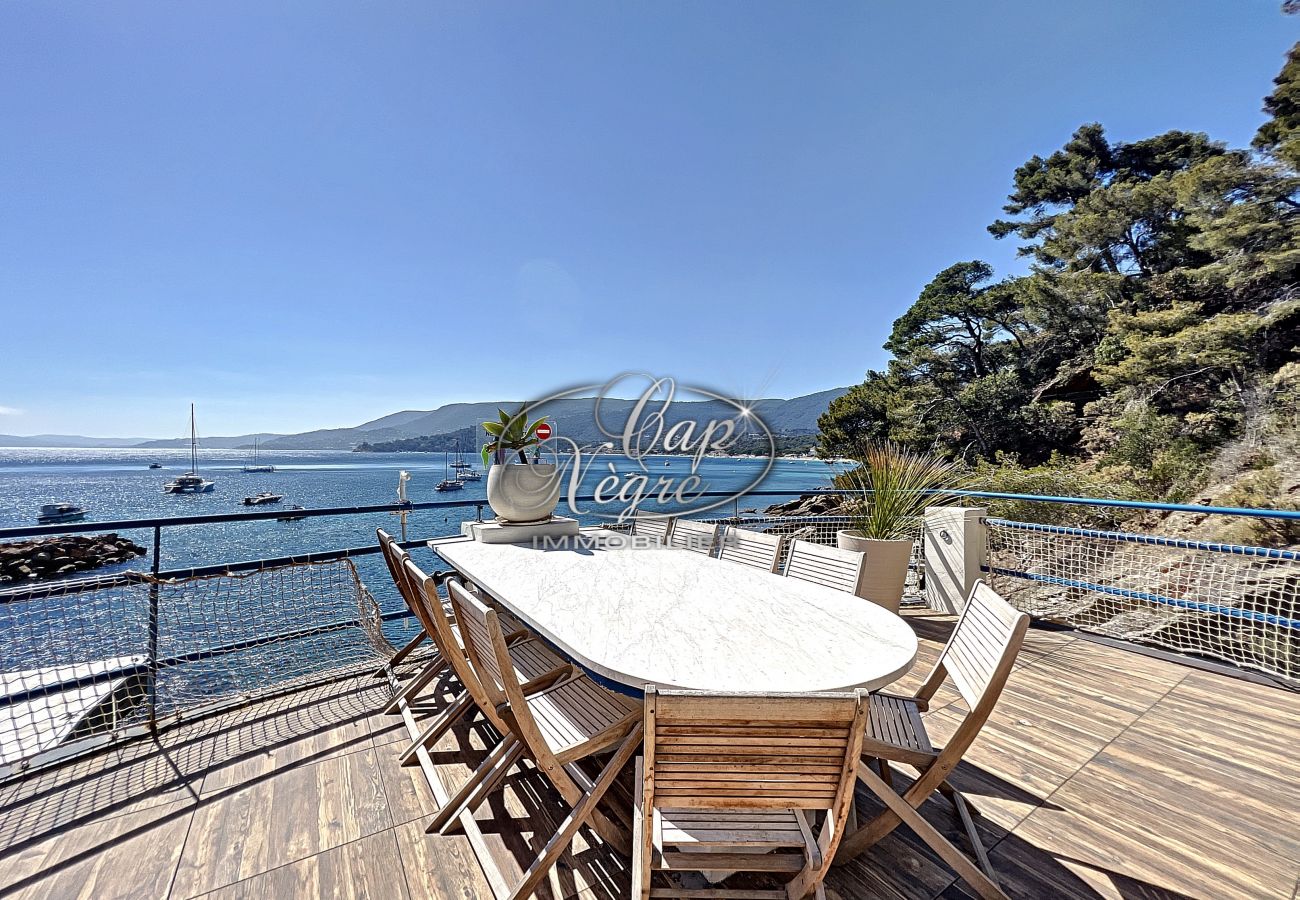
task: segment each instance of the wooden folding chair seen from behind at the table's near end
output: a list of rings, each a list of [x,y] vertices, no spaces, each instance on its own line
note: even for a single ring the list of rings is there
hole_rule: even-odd
[[[826,897],[844,835],[870,705],[866,691],[645,698],[637,760],[632,896]],[[814,834],[809,815],[824,812]],[[746,852],[748,851],[748,852]],[[784,873],[780,890],[655,888],[655,871]]]

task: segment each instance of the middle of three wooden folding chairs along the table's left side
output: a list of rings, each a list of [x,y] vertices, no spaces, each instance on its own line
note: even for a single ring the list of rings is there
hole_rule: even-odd
[[[484,691],[477,674],[465,657],[462,632],[451,620],[451,611],[438,598],[437,581],[420,571],[420,567],[410,558],[404,561],[404,567],[407,577],[424,601],[425,616],[433,628],[434,641],[442,649],[462,684],[462,692],[433,722],[425,726],[411,747],[402,752],[400,763],[412,766],[419,762],[421,749],[437,744],[447,730],[471,710],[478,710],[499,735],[508,734],[508,726],[497,714],[497,704]],[[448,581],[448,592],[451,590],[450,584],[463,589],[460,581]],[[573,674],[573,667],[569,663],[560,659],[541,640],[529,636],[528,632],[517,631],[507,636],[507,644],[515,678],[524,683],[525,689],[540,689]],[[464,796],[468,796],[468,791]],[[447,808],[450,806],[452,806],[451,802],[447,804]]]

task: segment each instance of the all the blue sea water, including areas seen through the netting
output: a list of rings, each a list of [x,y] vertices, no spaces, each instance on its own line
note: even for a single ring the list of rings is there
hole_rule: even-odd
[[[165,468],[148,468],[152,462],[162,463]],[[243,472],[242,467],[250,462],[246,453],[200,451],[199,472],[216,486],[211,493],[177,496],[162,493],[162,485],[188,471],[188,450],[4,449],[0,450],[0,527],[34,525],[43,503],[62,501],[84,507],[88,522],[220,515],[251,509],[287,511],[291,505],[322,509],[394,503],[398,472],[403,470],[411,473],[407,496],[412,502],[480,501],[484,515],[491,515],[486,506],[486,479],[469,481],[463,490],[434,490],[438,481],[454,475],[445,468],[441,454],[264,453],[259,462],[274,466],[272,473]],[[472,462],[478,468],[478,459]],[[647,457],[644,462],[651,484],[662,475],[680,483],[690,472],[690,460],[682,457]],[[601,458],[586,470],[577,494],[590,496],[601,479],[611,473],[611,464],[618,475],[637,471],[636,463],[627,458]],[[766,466],[763,459],[705,458],[697,468],[701,477],[698,489],[738,490],[753,485]],[[841,468],[815,460],[776,460],[754,489],[788,493],[741,497],[712,515],[762,512],[771,503],[827,486]],[[263,507],[242,503],[244,497],[263,490],[283,494],[283,501]],[[604,520],[597,515],[601,507],[592,503],[581,506],[584,511],[577,518],[585,524]],[[572,514],[563,506],[560,512]],[[460,523],[474,515],[472,505],[412,511],[406,514],[406,537],[416,541],[455,535]],[[177,570],[343,548],[373,548],[376,528],[385,528],[396,536],[403,533],[402,519],[394,512],[169,527],[162,529],[160,562],[162,570]],[[118,529],[118,533],[146,549],[152,546],[151,528]],[[412,555],[425,571],[446,568],[446,563],[426,548],[416,549]],[[148,571],[151,563],[148,557],[136,558],[96,570],[96,574]],[[359,555],[355,566],[381,611],[394,615],[404,611],[404,602],[378,554]],[[270,642],[168,667],[157,683],[160,710],[176,711],[364,657],[365,644],[356,628],[300,640],[280,641],[276,637],[304,626],[358,615],[356,600],[348,601],[346,593],[274,589],[248,596],[234,583],[226,593],[213,593],[217,588],[207,581],[195,584],[198,589],[192,594],[185,583],[165,589],[165,609],[160,609],[164,627],[157,645],[159,658],[243,645],[250,640]],[[62,596],[56,585],[51,587],[55,593],[48,597],[0,605],[0,672],[147,652],[147,590],[114,593],[109,589]],[[299,593],[302,596],[296,596]],[[400,646],[415,635],[416,623],[408,616],[390,618],[384,631],[394,646]]]

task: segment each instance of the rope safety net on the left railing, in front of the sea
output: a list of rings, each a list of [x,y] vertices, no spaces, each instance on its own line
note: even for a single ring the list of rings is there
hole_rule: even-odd
[[[151,717],[374,666],[395,652],[389,618],[351,559],[0,594],[0,778]]]

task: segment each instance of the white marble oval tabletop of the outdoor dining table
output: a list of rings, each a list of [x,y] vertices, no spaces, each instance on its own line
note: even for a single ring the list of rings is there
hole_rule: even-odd
[[[853,594],[725,559],[632,546],[610,531],[564,546],[430,541],[468,580],[610,687],[875,689],[916,658],[898,615]]]

